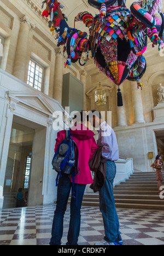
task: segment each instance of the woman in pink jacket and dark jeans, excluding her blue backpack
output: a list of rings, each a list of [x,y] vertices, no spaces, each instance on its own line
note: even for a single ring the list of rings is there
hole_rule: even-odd
[[[69,222],[69,231],[66,245],[78,245],[78,237],[80,233],[80,222],[81,222],[81,205],[83,201],[83,195],[87,184],[93,183],[91,176],[91,171],[89,168],[89,161],[93,158],[97,147],[94,133],[89,130],[85,125],[83,125],[84,113],[80,113],[80,120],[71,129],[71,135],[78,146],[79,149],[79,175],[75,176],[75,194],[77,194],[77,199],[71,199],[71,218]],[[57,133],[55,152],[57,150],[58,144],[65,139],[65,130]],[[56,210],[54,214],[54,220],[52,224],[52,237],[50,245],[61,245],[61,238],[63,235],[63,217],[66,212],[67,202],[69,198],[70,191],[72,189],[72,178],[68,176],[62,176],[58,181],[57,188],[57,203]]]

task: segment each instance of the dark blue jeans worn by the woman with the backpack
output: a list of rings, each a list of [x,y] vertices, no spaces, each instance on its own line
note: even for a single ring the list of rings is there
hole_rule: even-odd
[[[66,245],[78,245],[81,223],[81,205],[86,185],[78,184],[78,200],[71,199],[71,217]],[[63,235],[63,218],[67,209],[67,202],[72,188],[72,182],[68,176],[59,178],[57,188],[57,203],[52,224],[50,245],[61,245]],[[77,184],[75,184],[75,195],[77,194]]]

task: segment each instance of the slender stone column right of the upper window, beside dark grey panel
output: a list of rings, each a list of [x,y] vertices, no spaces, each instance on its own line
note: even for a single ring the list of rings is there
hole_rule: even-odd
[[[63,88],[63,52],[61,48],[55,50],[55,76],[54,76],[54,89],[53,98],[62,103],[62,88]]]

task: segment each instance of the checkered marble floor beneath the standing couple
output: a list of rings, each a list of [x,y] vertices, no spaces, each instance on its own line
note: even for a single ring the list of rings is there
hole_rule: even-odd
[[[0,211],[0,245],[49,245],[55,206]],[[162,211],[118,209],[124,245],[164,245]],[[65,214],[62,244],[67,242],[69,206]],[[104,236],[98,207],[83,207],[79,245],[94,245]]]

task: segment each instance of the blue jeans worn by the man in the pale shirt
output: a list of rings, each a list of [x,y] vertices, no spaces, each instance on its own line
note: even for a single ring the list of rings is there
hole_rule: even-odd
[[[106,182],[99,191],[99,208],[102,213],[107,242],[115,242],[120,234],[119,218],[115,208],[113,182],[116,174],[115,162],[107,161]]]

